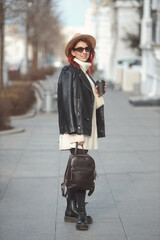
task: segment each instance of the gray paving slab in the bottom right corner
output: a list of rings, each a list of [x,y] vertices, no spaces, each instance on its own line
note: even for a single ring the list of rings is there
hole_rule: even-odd
[[[120,215],[128,236],[160,236],[159,213],[155,211],[156,207],[151,205],[151,201],[137,201],[117,203]],[[126,211],[127,209],[127,211]]]

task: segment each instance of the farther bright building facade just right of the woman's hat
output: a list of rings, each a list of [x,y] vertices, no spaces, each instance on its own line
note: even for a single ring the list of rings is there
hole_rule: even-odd
[[[106,80],[115,82],[117,59],[137,53],[123,40],[127,32],[139,34],[137,1],[92,0],[86,29],[97,39],[97,68]]]

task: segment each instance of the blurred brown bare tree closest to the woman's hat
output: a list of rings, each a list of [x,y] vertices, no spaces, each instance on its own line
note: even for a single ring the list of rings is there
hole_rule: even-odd
[[[47,58],[48,53],[54,53],[54,45],[61,38],[55,4],[53,0],[33,1],[28,11],[28,40],[33,48],[33,71],[38,68],[38,52],[43,52]]]

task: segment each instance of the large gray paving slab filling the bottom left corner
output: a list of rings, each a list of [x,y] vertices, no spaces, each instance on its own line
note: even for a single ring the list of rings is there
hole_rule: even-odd
[[[0,204],[1,239],[52,239],[57,179],[13,179]]]

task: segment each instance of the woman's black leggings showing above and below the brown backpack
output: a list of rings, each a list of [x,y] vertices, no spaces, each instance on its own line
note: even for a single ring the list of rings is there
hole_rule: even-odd
[[[70,149],[71,154],[75,152],[75,148]],[[84,153],[87,153],[88,150],[84,150]],[[83,149],[77,149],[77,153],[83,153]],[[78,203],[85,202],[86,190],[69,190],[68,198],[71,200],[76,199]]]

